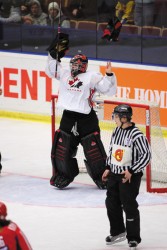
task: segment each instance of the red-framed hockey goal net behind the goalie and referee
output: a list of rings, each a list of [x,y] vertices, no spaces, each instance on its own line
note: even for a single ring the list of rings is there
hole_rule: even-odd
[[[62,110],[56,108],[57,95],[53,95],[52,103],[52,139],[54,132],[59,127]],[[119,104],[129,104],[133,108],[133,121],[136,126],[147,137],[151,144],[152,160],[151,164],[146,168],[144,177],[146,178],[146,188],[148,192],[167,192],[167,149],[163,137],[163,131],[160,125],[159,106],[155,103],[144,103],[143,101],[135,101],[132,99],[121,100],[118,98],[109,100],[108,97],[97,98],[95,109],[99,117],[101,128],[101,138],[108,152],[111,133],[115,127],[114,121],[111,120],[112,111]],[[81,146],[77,152],[77,160],[80,172],[86,172],[84,165],[84,153]]]

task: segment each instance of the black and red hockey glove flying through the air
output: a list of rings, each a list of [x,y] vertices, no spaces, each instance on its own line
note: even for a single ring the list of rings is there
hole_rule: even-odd
[[[108,41],[118,41],[118,36],[122,28],[122,23],[118,19],[118,17],[114,17],[110,19],[104,32],[102,39],[106,39]]]

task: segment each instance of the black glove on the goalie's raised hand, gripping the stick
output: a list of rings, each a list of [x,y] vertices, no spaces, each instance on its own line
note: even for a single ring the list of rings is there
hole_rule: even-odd
[[[69,35],[65,33],[57,34],[56,38],[51,42],[47,48],[52,58],[61,62],[61,58],[65,56],[69,49]]]

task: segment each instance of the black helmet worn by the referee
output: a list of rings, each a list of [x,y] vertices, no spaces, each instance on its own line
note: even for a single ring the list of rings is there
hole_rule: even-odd
[[[132,108],[127,104],[121,104],[114,108],[113,115],[118,115],[119,118],[126,117],[128,121],[132,118]]]

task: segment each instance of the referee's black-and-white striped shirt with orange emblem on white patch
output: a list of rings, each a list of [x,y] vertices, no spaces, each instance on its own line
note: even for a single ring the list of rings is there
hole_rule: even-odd
[[[109,155],[106,163],[111,172],[120,174],[128,169],[130,173],[144,170],[151,160],[151,149],[147,138],[132,123],[123,129],[116,127],[112,133]]]

